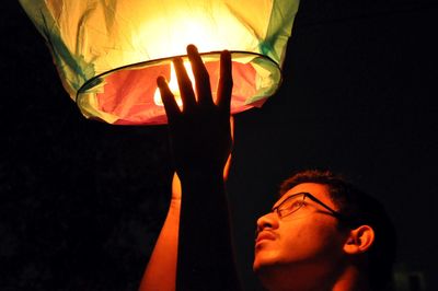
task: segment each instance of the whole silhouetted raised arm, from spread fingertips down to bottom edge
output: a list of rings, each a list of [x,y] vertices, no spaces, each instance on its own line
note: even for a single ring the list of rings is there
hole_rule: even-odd
[[[231,56],[227,50],[221,53],[220,79],[214,101],[209,75],[196,47],[189,45],[187,54],[195,89],[183,60],[176,58],[173,61],[182,109],[164,78],[157,80],[169,120],[171,148],[182,190],[181,211],[176,216],[180,219],[177,252],[173,245],[166,247],[168,251],[173,249],[174,256],[177,254],[177,264],[171,265],[174,261],[171,258],[166,266],[177,266],[176,290],[196,291],[206,287],[210,290],[241,290],[223,179],[232,147]],[[172,201],[176,206],[177,197],[174,193]],[[177,207],[171,207],[170,213],[176,213],[174,209]],[[169,254],[168,251],[165,254]],[[164,271],[172,275],[175,270],[174,267],[161,268],[161,273]],[[173,286],[168,290],[173,290]]]

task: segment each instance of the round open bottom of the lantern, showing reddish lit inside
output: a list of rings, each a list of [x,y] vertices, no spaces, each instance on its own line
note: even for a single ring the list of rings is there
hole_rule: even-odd
[[[263,55],[245,51],[230,53],[234,80],[231,114],[262,106],[280,84],[279,66]],[[188,57],[180,57],[183,58],[194,84]],[[212,97],[216,100],[220,51],[200,54],[200,57],[209,73]],[[159,75],[164,75],[178,100],[177,80],[172,69],[172,59],[139,62],[94,77],[79,89],[76,102],[82,114],[91,119],[114,125],[166,124],[168,119],[155,80]],[[181,106],[181,97],[178,105]]]

